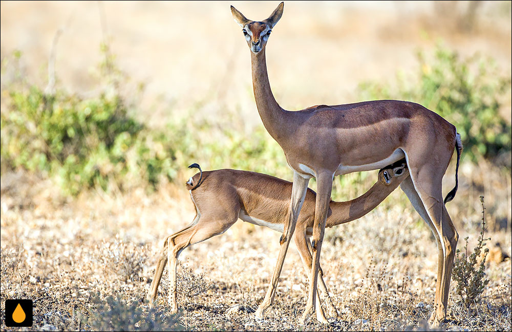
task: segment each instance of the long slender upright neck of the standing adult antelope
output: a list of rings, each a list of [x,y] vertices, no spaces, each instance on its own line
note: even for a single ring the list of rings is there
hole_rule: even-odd
[[[286,110],[275,101],[267,75],[265,48],[259,53],[251,52],[252,88],[261,121],[268,133],[278,143],[288,137],[290,119]]]

